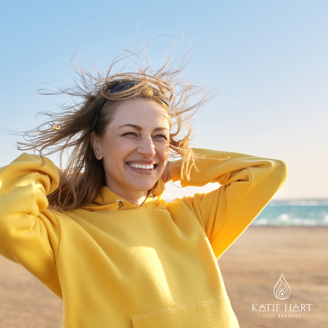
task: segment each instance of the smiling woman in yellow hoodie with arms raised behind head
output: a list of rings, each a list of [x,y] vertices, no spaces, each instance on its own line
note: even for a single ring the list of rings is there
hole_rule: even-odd
[[[189,148],[181,128],[199,103],[188,107],[189,85],[174,94],[174,74],[93,84],[82,75],[84,91],[68,93],[83,103],[21,146],[41,157],[22,154],[0,171],[1,254],[63,299],[64,327],[238,327],[216,259],[281,187],[286,166]],[[63,174],[42,156],[51,147],[73,147]],[[181,158],[168,164],[169,154]],[[171,179],[222,186],[166,203]]]

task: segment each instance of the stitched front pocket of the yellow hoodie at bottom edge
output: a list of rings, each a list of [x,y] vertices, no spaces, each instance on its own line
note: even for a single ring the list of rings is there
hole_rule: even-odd
[[[238,328],[228,296],[132,317],[133,328]]]

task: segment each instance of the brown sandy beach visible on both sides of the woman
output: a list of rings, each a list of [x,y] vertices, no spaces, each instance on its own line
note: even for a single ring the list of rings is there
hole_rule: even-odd
[[[328,326],[327,228],[250,227],[218,264],[241,328]],[[291,289],[285,300],[273,294],[281,273]],[[252,304],[259,310],[273,303],[280,304],[280,312],[271,306],[269,312],[252,311]],[[285,312],[285,304],[292,304],[292,310],[295,304],[312,305],[310,312]],[[61,325],[62,301],[20,265],[0,256],[0,327]]]

